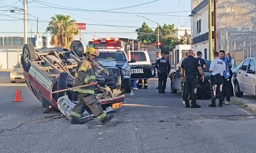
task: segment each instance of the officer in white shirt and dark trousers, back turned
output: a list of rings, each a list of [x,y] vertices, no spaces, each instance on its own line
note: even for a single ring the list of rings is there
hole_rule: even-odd
[[[211,62],[210,72],[211,72],[211,105],[208,107],[216,107],[215,99],[216,99],[216,91],[219,91],[219,107],[222,107],[223,102],[223,91],[222,86],[224,82],[223,73],[226,69],[226,64],[219,58],[219,53],[214,52],[214,61]]]

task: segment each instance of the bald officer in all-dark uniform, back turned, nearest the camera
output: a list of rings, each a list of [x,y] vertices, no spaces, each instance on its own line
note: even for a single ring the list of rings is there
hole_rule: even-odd
[[[188,57],[185,58],[181,63],[181,79],[185,81],[185,94],[183,99],[185,101],[185,107],[190,107],[189,105],[189,94],[191,94],[191,108],[200,108],[200,105],[196,103],[196,93],[197,93],[197,70],[199,71],[200,75],[202,76],[202,82],[204,82],[204,74],[202,67],[198,63],[198,60],[194,58],[195,53],[193,50],[188,51]],[[184,78],[184,70],[186,72],[186,78]],[[184,80],[185,79],[185,80]]]

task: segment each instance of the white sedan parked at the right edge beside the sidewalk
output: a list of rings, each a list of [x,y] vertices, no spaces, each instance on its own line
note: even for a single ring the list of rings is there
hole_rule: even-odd
[[[235,94],[242,97],[243,93],[256,95],[256,57],[247,58],[235,68],[233,83]]]

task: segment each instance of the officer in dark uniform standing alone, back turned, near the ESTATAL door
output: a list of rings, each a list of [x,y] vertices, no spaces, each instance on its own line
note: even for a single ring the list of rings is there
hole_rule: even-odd
[[[155,63],[158,75],[158,93],[165,93],[167,75],[171,71],[170,63],[166,59],[166,55],[162,54],[162,58]]]

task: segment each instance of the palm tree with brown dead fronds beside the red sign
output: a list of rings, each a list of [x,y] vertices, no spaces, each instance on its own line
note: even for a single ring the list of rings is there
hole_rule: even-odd
[[[76,20],[71,19],[69,15],[57,14],[50,18],[51,21],[46,28],[50,31],[52,39],[50,44],[55,47],[69,48],[70,43],[78,34]]]

